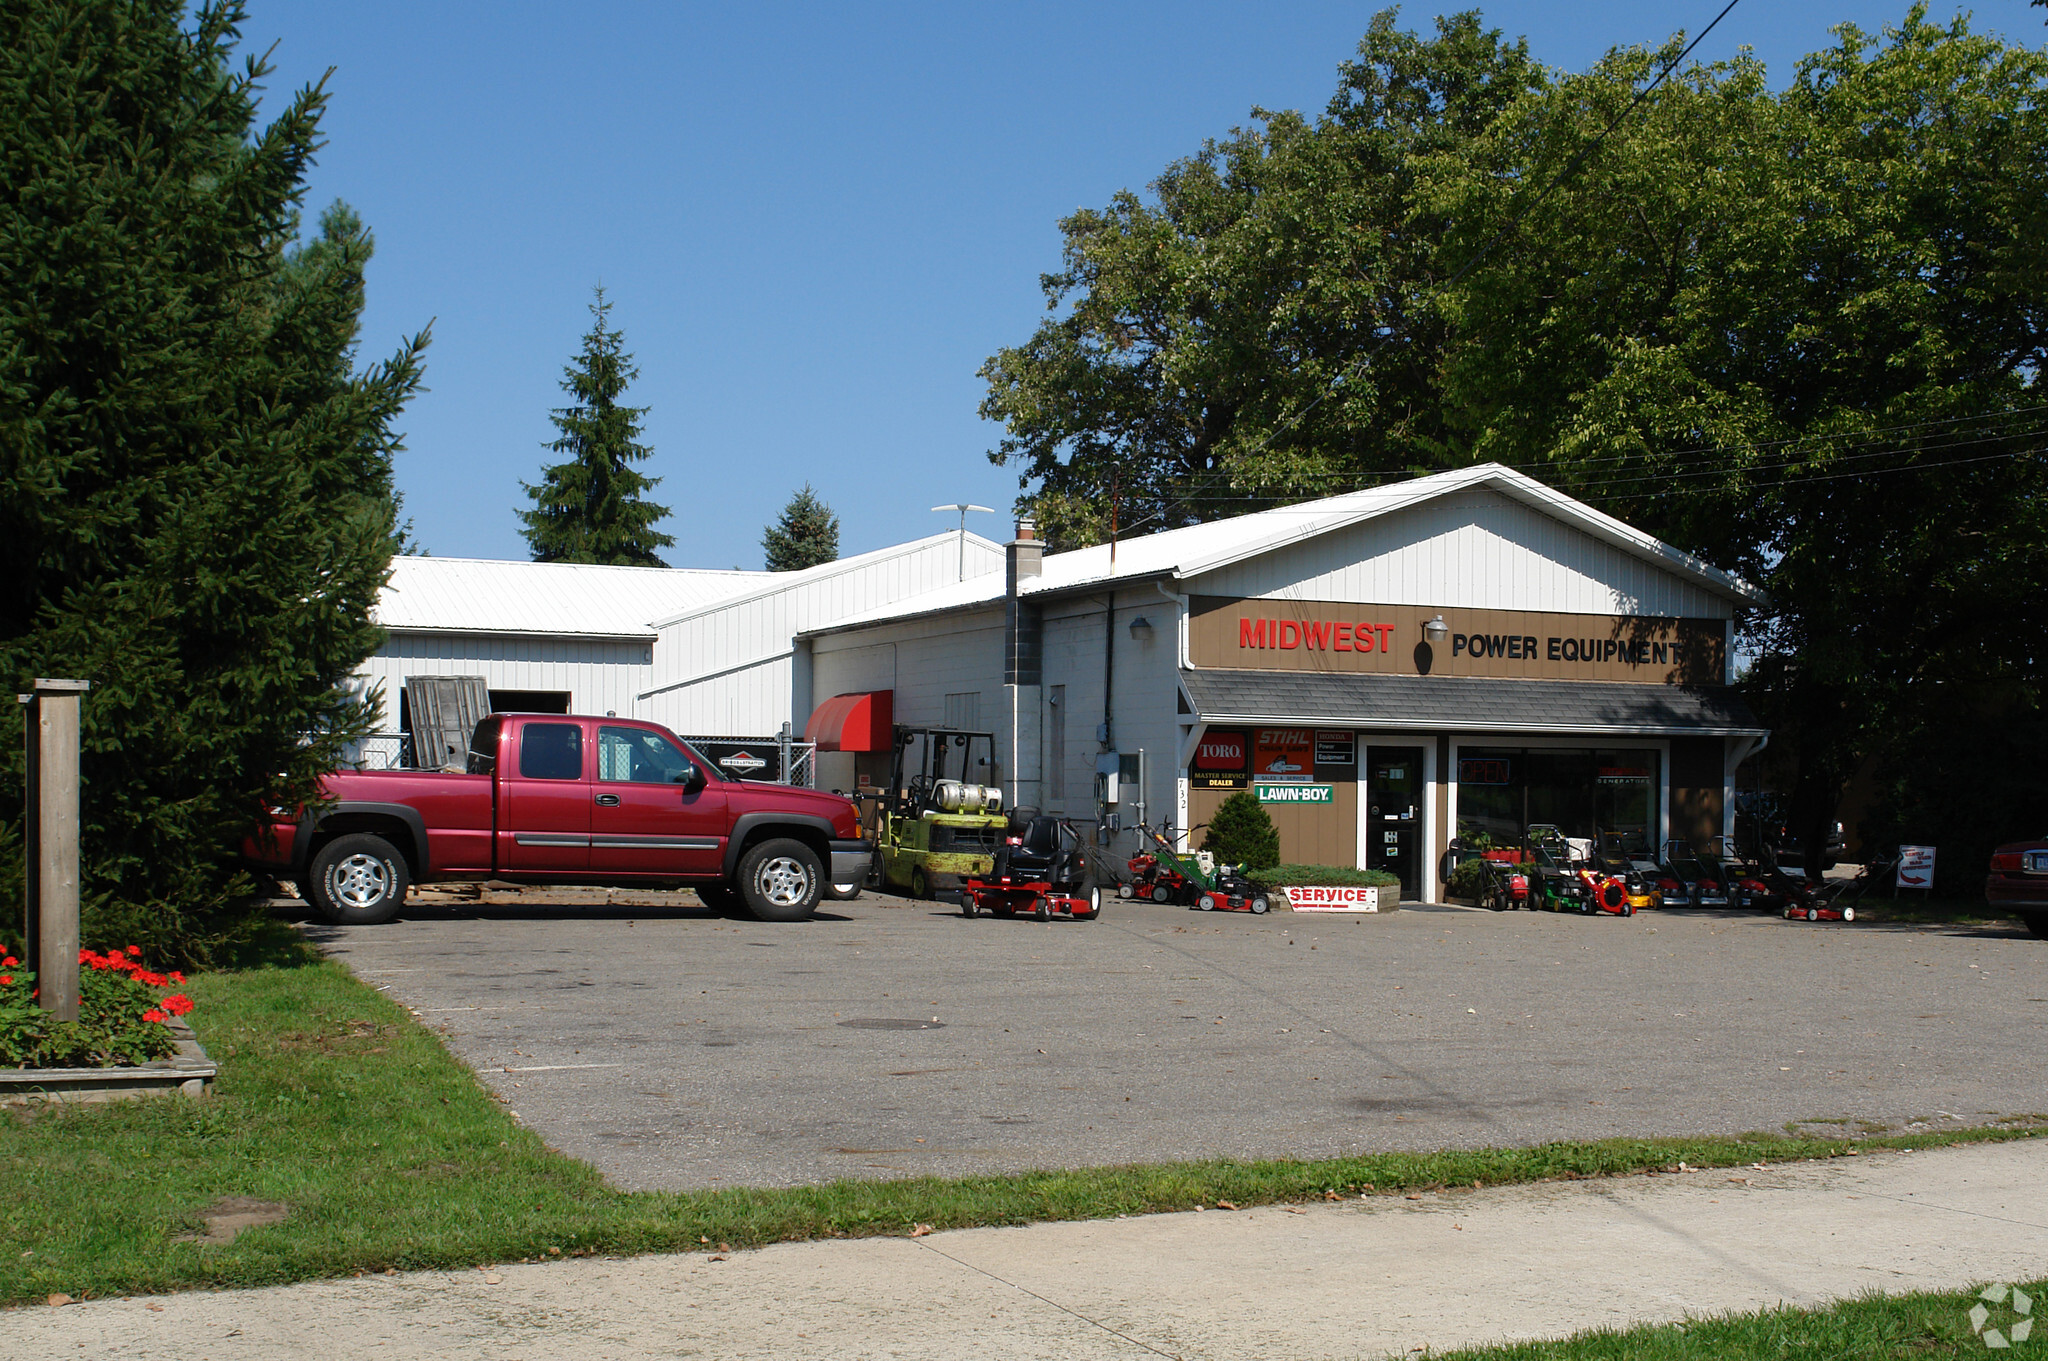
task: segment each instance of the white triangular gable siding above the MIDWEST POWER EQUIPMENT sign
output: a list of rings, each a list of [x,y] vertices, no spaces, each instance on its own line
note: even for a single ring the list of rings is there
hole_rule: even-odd
[[[1731,602],[1495,491],[1464,491],[1194,577],[1194,596],[1729,618]]]

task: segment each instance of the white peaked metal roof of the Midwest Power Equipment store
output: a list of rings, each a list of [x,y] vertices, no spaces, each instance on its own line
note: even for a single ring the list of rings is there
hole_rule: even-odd
[[[1384,487],[1366,487],[1319,501],[1260,510],[1249,516],[1190,524],[1178,530],[1126,538],[1116,544],[1116,561],[1110,561],[1110,544],[1075,548],[1071,553],[1049,553],[1038,577],[1024,581],[1020,594],[1044,596],[1057,591],[1090,589],[1110,581],[1143,581],[1147,577],[1194,577],[1217,567],[1227,567],[1262,553],[1272,553],[1331,530],[1339,530],[1378,516],[1432,501],[1442,495],[1470,489],[1491,489],[1524,506],[1552,516],[1593,538],[1608,542],[1632,557],[1649,561],[1677,577],[1694,581],[1716,596],[1755,604],[1763,591],[1741,577],[1710,567],[1708,563],[1681,553],[1671,544],[1645,534],[1614,516],[1602,514],[1583,501],[1542,485],[1534,477],[1516,473],[1499,463],[1481,463],[1470,469],[1434,473]],[[981,577],[961,581],[924,596],[899,600],[891,606],[836,620],[834,628],[858,624],[879,624],[895,618],[920,614],[940,614],[967,606],[983,606],[1004,598],[1004,577]]]

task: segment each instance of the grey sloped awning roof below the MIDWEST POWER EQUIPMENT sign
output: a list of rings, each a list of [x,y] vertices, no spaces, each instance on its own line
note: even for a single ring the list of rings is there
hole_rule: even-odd
[[[1417,733],[1761,737],[1733,690],[1630,682],[1182,669],[1204,722],[1329,722]]]

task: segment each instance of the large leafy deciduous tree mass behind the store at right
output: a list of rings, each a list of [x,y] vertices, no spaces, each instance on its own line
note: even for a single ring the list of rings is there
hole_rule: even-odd
[[[1497,458],[1743,573],[1815,841],[1972,686],[2038,704],[2048,57],[1923,6],[1782,90],[1649,92],[1677,53],[1571,76],[1382,14],[1315,123],[1067,219],[983,413],[1063,542],[1112,487],[1151,528]]]

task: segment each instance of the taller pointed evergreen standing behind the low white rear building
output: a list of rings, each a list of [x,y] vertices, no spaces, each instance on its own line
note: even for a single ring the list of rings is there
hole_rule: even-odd
[[[633,467],[653,452],[637,442],[647,407],[618,405],[639,366],[621,348],[625,336],[606,330],[610,311],[600,284],[584,352],[563,370],[561,391],[573,405],[551,415],[561,438],[547,448],[567,458],[541,469],[539,487],[520,483],[535,501],[518,516],[537,563],[668,567],[655,548],[676,542],[653,528],[668,506],[643,499],[662,479]]]

